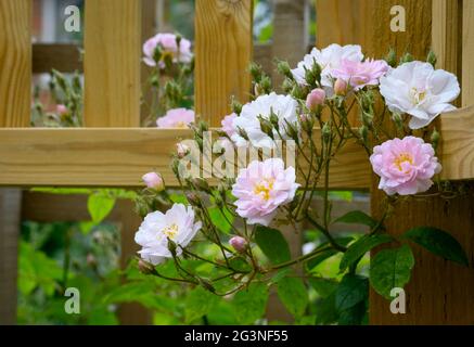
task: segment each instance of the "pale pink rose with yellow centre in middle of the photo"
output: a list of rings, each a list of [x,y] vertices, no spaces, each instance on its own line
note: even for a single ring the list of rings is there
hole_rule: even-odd
[[[295,169],[284,169],[280,158],[252,162],[240,170],[232,187],[232,194],[238,198],[236,213],[247,218],[249,224],[268,226],[277,208],[293,201],[299,187],[295,181]]]

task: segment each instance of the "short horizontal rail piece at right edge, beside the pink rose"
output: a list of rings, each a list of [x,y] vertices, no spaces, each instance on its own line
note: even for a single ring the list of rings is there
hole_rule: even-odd
[[[440,117],[441,178],[474,179],[474,106],[460,108]]]

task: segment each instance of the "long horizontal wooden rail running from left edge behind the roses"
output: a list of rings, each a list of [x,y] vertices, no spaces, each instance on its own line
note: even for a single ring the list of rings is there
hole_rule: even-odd
[[[156,170],[177,185],[170,154],[190,130],[150,128],[0,129],[0,185],[141,187]],[[332,189],[370,184],[367,155],[347,143],[331,167]]]

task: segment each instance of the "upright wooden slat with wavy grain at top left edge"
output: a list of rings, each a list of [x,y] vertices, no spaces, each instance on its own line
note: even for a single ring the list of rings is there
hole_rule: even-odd
[[[31,103],[31,3],[0,1],[0,127],[27,127]]]

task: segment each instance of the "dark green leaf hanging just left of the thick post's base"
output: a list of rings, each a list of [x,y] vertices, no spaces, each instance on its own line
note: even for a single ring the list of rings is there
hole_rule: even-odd
[[[343,312],[369,296],[369,281],[364,277],[348,273],[343,278],[335,293],[336,309]]]

